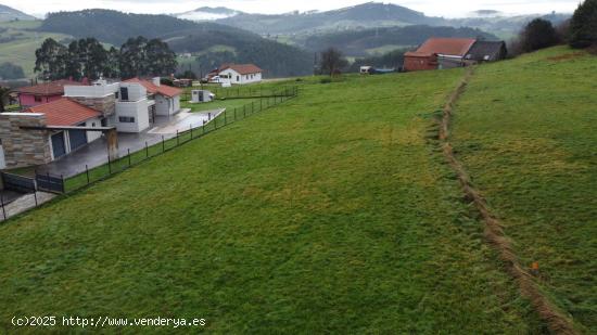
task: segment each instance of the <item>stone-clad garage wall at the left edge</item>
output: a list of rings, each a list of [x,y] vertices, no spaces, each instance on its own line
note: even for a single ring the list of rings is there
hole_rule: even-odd
[[[50,163],[52,160],[50,132],[22,129],[22,126],[46,127],[46,115],[0,113],[0,139],[7,168]]]

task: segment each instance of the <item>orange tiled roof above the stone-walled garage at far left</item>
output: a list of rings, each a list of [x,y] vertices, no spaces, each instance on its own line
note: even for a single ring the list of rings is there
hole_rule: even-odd
[[[96,109],[91,109],[66,98],[30,107],[25,112],[46,114],[48,126],[76,126],[85,120],[102,115]]]

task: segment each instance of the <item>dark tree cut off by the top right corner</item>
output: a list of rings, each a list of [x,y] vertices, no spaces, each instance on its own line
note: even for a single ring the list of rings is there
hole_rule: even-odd
[[[587,48],[593,44],[597,44],[597,0],[586,0],[570,21],[570,46]]]

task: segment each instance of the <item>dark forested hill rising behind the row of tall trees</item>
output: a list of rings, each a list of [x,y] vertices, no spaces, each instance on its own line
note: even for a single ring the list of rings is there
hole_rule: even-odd
[[[105,27],[110,26],[111,29]],[[96,37],[100,41],[122,44],[128,37],[161,38],[178,53],[201,53],[199,63],[206,73],[221,63],[255,63],[268,77],[298,76],[313,72],[310,53],[288,44],[267,40],[239,28],[211,22],[196,23],[168,15],[125,14],[110,10],[60,12],[48,15],[38,28]],[[228,51],[209,51],[218,47]]]

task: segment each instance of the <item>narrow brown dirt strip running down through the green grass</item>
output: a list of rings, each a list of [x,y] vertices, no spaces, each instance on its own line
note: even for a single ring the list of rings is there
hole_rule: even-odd
[[[572,320],[549,301],[533,281],[531,273],[520,265],[512,244],[504,232],[501,223],[496,216],[492,214],[487,202],[483,198],[479,190],[474,188],[465,167],[454,154],[453,146],[449,142],[452,115],[456,102],[465,91],[473,73],[474,68],[470,67],[462,81],[458,85],[458,88],[452,93],[444,105],[439,134],[442,151],[447,163],[458,176],[458,181],[462,186],[466,199],[474,204],[485,223],[485,239],[487,239],[488,243],[498,252],[500,259],[505,262],[508,273],[516,280],[521,295],[531,300],[533,308],[547,323],[551,332],[556,334],[577,334],[577,331],[572,325]]]

